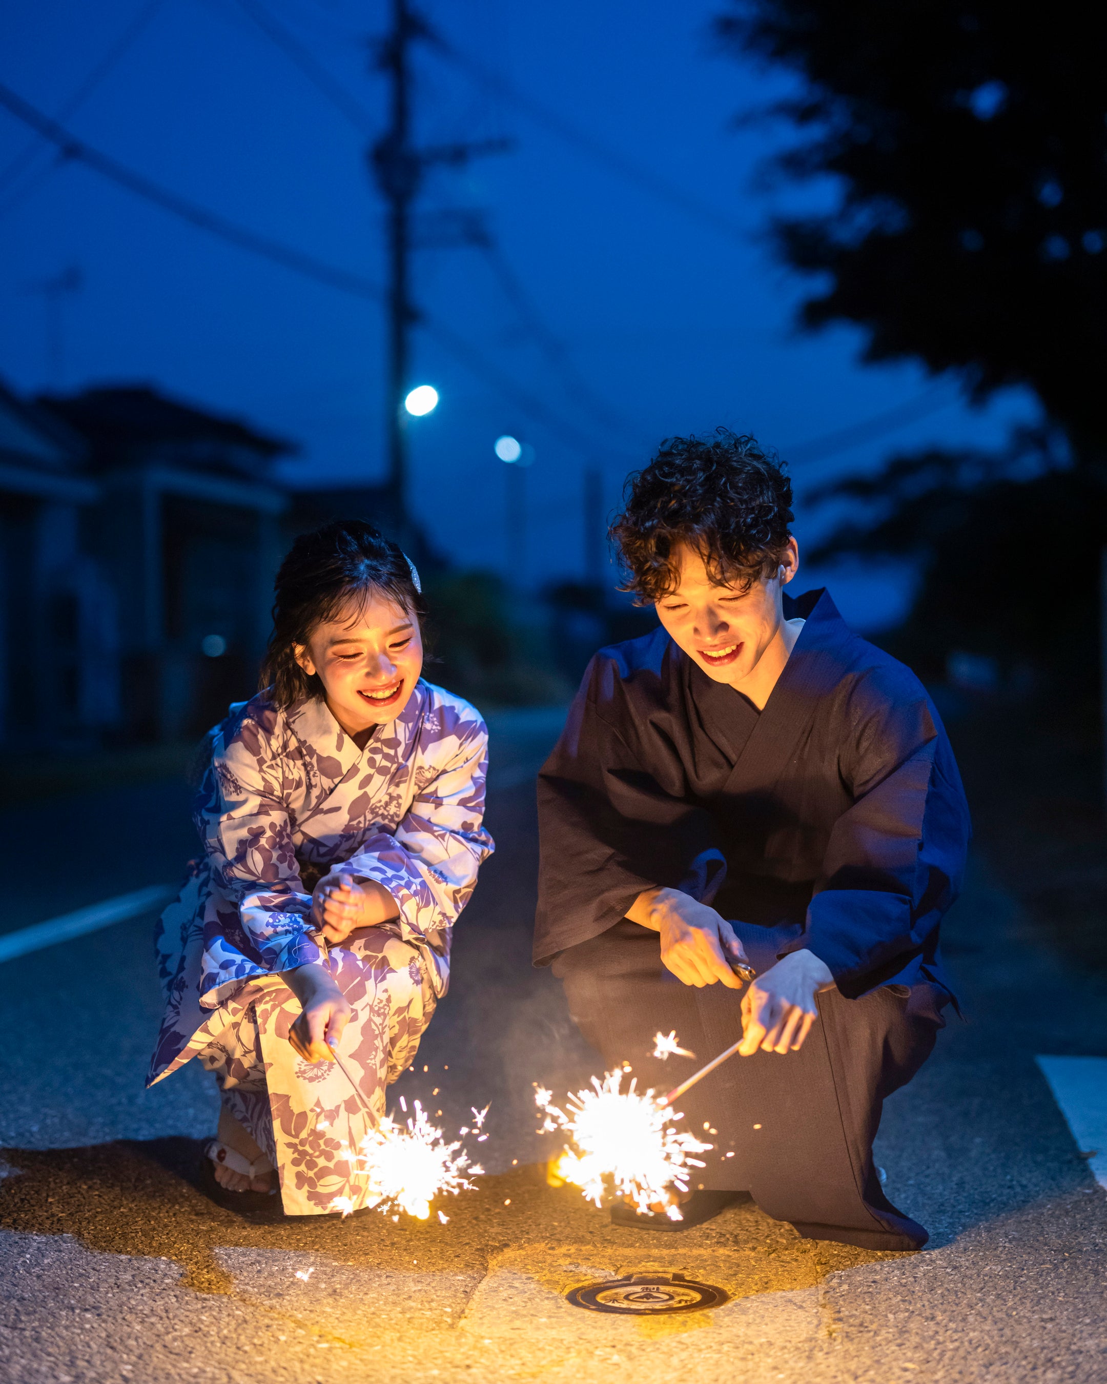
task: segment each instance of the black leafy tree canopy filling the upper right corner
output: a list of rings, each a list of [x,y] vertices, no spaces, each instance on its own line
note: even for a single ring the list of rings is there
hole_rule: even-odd
[[[792,69],[793,179],[827,215],[774,226],[829,275],[803,322],[850,321],[870,361],[1028,385],[1079,464],[1107,457],[1107,8],[1088,0],[733,0],[724,43]]]

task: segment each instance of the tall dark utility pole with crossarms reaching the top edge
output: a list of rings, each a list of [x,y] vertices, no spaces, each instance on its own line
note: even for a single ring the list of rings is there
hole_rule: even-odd
[[[389,493],[396,523],[407,529],[408,484],[408,415],[404,397],[411,388],[411,328],[419,310],[411,302],[411,252],[415,248],[483,245],[487,231],[479,213],[454,212],[439,216],[441,224],[429,237],[415,235],[412,203],[419,194],[423,173],[432,165],[461,165],[479,154],[502,154],[513,147],[511,140],[443,144],[418,149],[411,140],[411,48],[417,40],[436,42],[433,32],[417,15],[408,0],[392,0],[392,29],[379,43],[376,65],[390,79],[392,119],[387,130],[369,149],[369,163],[381,195],[387,202],[387,451]],[[448,224],[447,224],[448,223]]]

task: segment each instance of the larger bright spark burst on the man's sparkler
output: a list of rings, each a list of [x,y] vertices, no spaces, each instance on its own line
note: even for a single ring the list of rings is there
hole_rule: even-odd
[[[591,1091],[570,1095],[566,1110],[552,1104],[552,1093],[536,1088],[536,1103],[545,1116],[542,1132],[563,1129],[571,1142],[558,1160],[556,1172],[581,1187],[588,1201],[602,1204],[606,1192],[630,1197],[639,1211],[667,1201],[670,1189],[688,1192],[688,1169],[703,1168],[695,1153],[713,1145],[675,1128],[682,1118],[659,1104],[653,1091],[638,1092],[638,1078],[621,1091],[621,1068],[592,1077]],[[670,1205],[670,1219],[682,1219]]]

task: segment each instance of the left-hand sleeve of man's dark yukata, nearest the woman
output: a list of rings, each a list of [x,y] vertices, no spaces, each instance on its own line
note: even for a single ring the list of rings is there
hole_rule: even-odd
[[[725,875],[714,823],[689,801],[675,757],[663,746],[649,753],[606,695],[610,682],[605,660],[594,660],[538,775],[540,966],[613,927],[643,890],[710,901]]]

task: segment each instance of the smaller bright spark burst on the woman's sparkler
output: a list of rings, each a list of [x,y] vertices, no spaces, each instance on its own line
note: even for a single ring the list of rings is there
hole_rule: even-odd
[[[470,1178],[483,1168],[470,1164],[469,1156],[458,1151],[459,1140],[446,1143],[441,1129],[430,1124],[422,1104],[418,1100],[414,1104],[415,1114],[404,1125],[385,1116],[361,1140],[351,1161],[356,1174],[368,1181],[364,1205],[385,1212],[399,1208],[418,1221],[426,1221],[430,1203],[439,1193],[457,1196],[472,1187]],[[335,1197],[331,1210],[346,1215],[346,1204],[353,1210],[349,1197]],[[399,1215],[393,1215],[393,1221],[397,1219]]]

